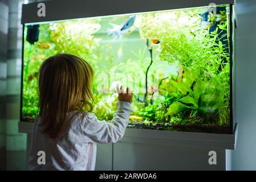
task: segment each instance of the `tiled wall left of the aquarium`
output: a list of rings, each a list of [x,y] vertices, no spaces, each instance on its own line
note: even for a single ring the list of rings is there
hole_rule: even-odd
[[[25,170],[26,134],[18,133],[23,2],[0,0],[0,170]],[[38,1],[39,2],[39,1]]]

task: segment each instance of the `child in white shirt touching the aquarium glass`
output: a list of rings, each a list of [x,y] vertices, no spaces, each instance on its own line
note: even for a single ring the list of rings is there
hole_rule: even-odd
[[[115,143],[123,137],[132,111],[132,93],[117,86],[119,102],[112,123],[99,121],[90,113],[92,77],[91,66],[74,55],[59,54],[43,62],[30,170],[94,170],[96,143]],[[45,164],[39,159],[41,151]]]

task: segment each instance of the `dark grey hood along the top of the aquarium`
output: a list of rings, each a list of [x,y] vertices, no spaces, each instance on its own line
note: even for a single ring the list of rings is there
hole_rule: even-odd
[[[54,0],[43,2],[46,16],[38,16],[39,2],[24,4],[22,7],[21,23],[39,23],[55,20],[90,18],[131,13],[146,13],[149,11],[185,9],[209,5],[234,4],[235,0]],[[40,7],[40,6],[39,6]]]

